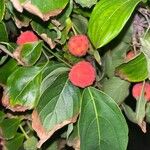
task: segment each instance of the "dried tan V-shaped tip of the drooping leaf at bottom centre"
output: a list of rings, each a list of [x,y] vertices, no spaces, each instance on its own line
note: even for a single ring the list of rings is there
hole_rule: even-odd
[[[39,141],[37,147],[40,148],[42,146],[42,144],[45,141],[47,141],[57,130],[61,129],[62,127],[64,127],[67,124],[75,123],[77,120],[77,117],[78,117],[78,115],[76,115],[73,118],[70,118],[68,120],[65,120],[62,123],[55,125],[55,127],[52,130],[47,132],[41,124],[41,121],[40,121],[37,111],[34,110],[32,113],[32,128],[36,131],[37,135],[40,138],[40,141]]]

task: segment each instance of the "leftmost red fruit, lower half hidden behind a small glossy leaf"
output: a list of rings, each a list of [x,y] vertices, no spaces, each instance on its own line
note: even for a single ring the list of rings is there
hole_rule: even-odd
[[[38,41],[38,37],[32,31],[25,31],[17,38],[17,44],[22,45],[29,42]]]

